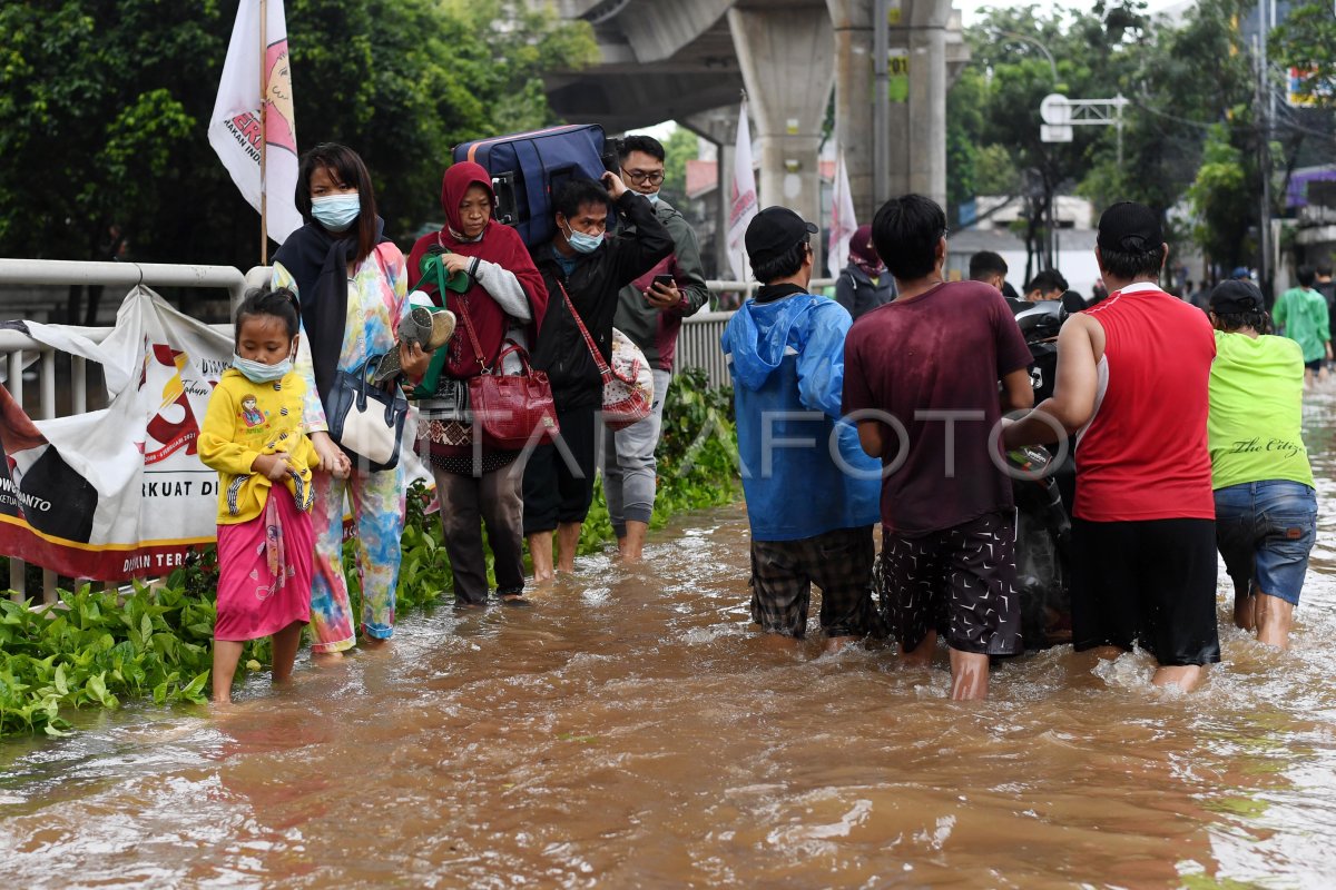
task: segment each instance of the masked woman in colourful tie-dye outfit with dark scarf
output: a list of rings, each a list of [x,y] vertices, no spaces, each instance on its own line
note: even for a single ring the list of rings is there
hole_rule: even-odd
[[[335,371],[399,348],[395,331],[409,311],[403,255],[383,235],[375,191],[362,159],[323,143],[298,169],[297,209],[306,224],[274,255],[273,286],[287,287],[302,308],[297,371],[306,382],[306,432],[319,455],[313,474],[315,570],[311,579],[311,651],[333,655],[355,643],[343,576],[343,504],[351,502],[362,587],[363,644],[394,634],[394,590],[403,534],[403,462],[378,472],[355,466],[329,435],[325,404]],[[405,374],[421,376],[430,358],[399,348]]]

